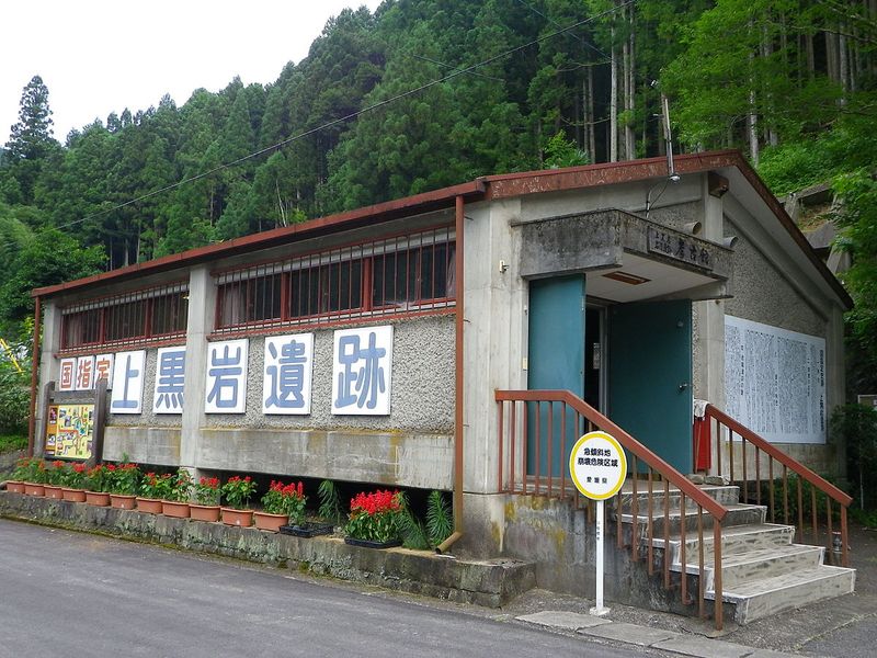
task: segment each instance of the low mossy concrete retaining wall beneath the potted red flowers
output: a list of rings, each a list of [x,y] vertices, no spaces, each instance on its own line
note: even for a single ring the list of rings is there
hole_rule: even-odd
[[[300,538],[136,510],[116,510],[0,491],[0,517],[123,538],[169,544],[263,564],[499,608],[536,583],[531,564],[514,559],[462,560],[425,551],[375,551],[340,537]]]

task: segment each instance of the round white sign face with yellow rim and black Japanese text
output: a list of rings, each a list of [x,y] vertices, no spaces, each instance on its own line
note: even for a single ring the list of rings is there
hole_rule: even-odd
[[[589,432],[569,455],[576,488],[591,500],[615,496],[627,476],[627,457],[620,443],[606,432]]]

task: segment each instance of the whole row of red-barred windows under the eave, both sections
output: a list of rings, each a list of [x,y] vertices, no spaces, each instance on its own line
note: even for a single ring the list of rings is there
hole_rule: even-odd
[[[449,228],[322,251],[217,276],[216,332],[426,310],[452,305]],[[185,334],[184,284],[65,309],[61,350]]]

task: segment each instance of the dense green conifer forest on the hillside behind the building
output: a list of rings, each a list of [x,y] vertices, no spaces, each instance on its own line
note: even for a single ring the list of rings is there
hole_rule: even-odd
[[[833,185],[877,375],[877,0],[386,0],[276,80],[53,134],[38,71],[0,149],[0,337],[30,291],[491,173],[742,150],[778,195]],[[665,100],[665,104],[664,104]],[[178,103],[178,101],[182,101]]]

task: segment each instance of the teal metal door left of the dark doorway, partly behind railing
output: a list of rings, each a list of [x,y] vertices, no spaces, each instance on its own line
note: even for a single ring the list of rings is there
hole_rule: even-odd
[[[527,388],[566,389],[584,394],[584,276],[559,276],[529,282],[529,345]],[[536,405],[527,410],[527,474],[559,476],[567,467],[569,451],[578,436],[567,419],[566,442],[561,440],[562,419],[556,405],[548,436],[548,408],[540,409],[539,455],[536,457]],[[567,415],[568,417],[571,415]],[[550,450],[549,450],[550,445]],[[549,460],[550,452],[550,460]]]

